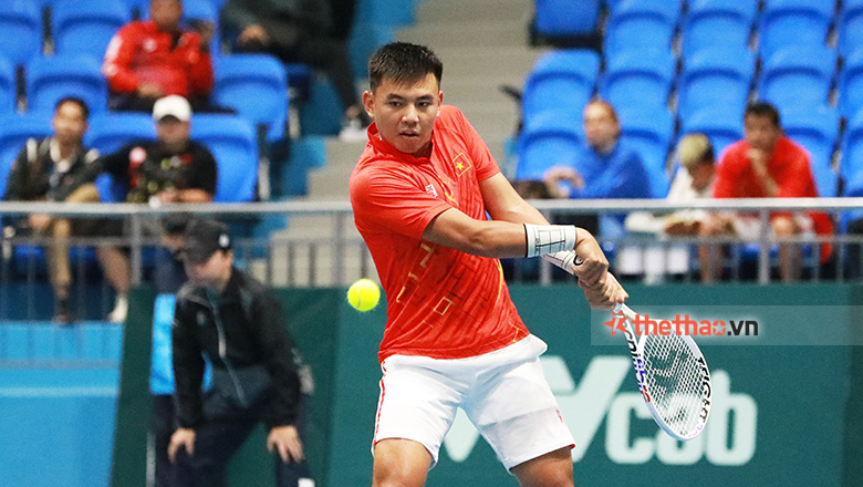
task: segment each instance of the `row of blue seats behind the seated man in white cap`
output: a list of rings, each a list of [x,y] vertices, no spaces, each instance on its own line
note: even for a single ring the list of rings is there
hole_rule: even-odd
[[[29,137],[51,135],[51,113],[0,116],[0,195],[15,156]],[[84,142],[101,153],[111,153],[138,139],[155,139],[153,118],[139,113],[102,113],[90,120]],[[258,139],[254,128],[236,115],[198,114],[191,121],[191,138],[207,146],[216,157],[218,203],[250,201],[256,195],[258,176]],[[122,188],[108,178],[100,182],[103,200],[123,200]]]

